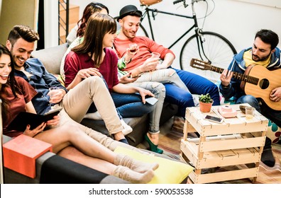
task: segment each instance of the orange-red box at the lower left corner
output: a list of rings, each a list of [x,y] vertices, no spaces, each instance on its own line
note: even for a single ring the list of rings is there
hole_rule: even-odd
[[[3,144],[4,167],[34,178],[36,158],[48,151],[52,144],[21,134]]]

